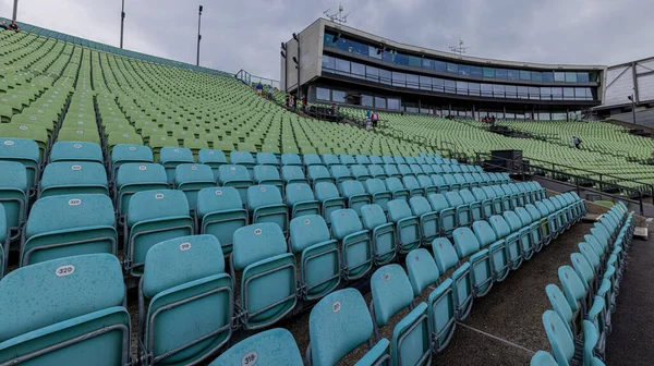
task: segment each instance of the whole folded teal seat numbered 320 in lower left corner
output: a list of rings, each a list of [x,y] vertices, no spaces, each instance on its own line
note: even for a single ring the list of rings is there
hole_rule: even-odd
[[[130,364],[130,315],[116,256],[19,268],[0,281],[0,293],[1,308],[12,309],[0,313],[0,363]]]

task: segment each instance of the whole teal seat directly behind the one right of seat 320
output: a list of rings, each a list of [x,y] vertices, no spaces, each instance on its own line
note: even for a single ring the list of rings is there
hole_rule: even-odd
[[[194,222],[181,191],[137,192],[130,198],[130,207],[123,237],[124,264],[130,276],[141,277],[147,251],[159,242],[193,235]]]

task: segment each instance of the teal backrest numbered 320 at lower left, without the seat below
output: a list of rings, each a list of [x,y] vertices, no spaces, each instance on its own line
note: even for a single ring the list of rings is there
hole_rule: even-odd
[[[125,285],[116,256],[86,254],[17,268],[0,281],[0,306],[12,309],[0,312],[0,340],[5,341],[94,312],[122,306]],[[48,305],[44,306],[46,303]]]

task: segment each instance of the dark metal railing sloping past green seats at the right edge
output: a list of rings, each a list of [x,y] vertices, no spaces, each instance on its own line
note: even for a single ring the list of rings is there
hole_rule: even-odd
[[[486,158],[486,159],[484,160],[483,158]],[[493,160],[496,160],[496,161],[499,160],[501,162],[511,162],[511,163],[510,164],[494,163],[494,162],[492,162]],[[481,166],[484,169],[496,168],[496,169],[505,170],[512,174],[521,175],[522,181],[525,181],[526,176],[538,176],[538,179],[542,179],[544,181],[554,182],[557,184],[562,184],[562,185],[573,187],[580,196],[581,196],[581,191],[585,191],[591,194],[596,194],[600,196],[607,196],[613,199],[629,202],[631,204],[638,205],[640,208],[640,215],[641,216],[644,215],[644,198],[645,198],[645,196],[639,190],[627,187],[627,186],[621,186],[619,184],[614,184],[614,183],[605,183],[605,182],[602,182],[598,180],[590,179],[588,176],[577,175],[573,173],[556,170],[554,168],[549,169],[549,168],[545,168],[545,167],[534,167],[531,164],[531,159],[524,158],[524,160],[529,160],[529,162],[526,162],[526,161],[518,162],[512,159],[493,156],[487,152],[476,152],[475,164]],[[561,179],[564,176],[566,178],[566,180]],[[586,185],[588,183],[591,183],[591,186]],[[595,188],[595,186],[597,184],[600,185],[598,190]],[[606,187],[606,186],[613,186],[613,187],[618,188],[618,192],[627,192],[629,194],[627,196],[625,196],[621,194],[614,194],[610,192],[606,192],[603,190],[603,187]],[[654,199],[653,199],[653,202],[654,202]]]

